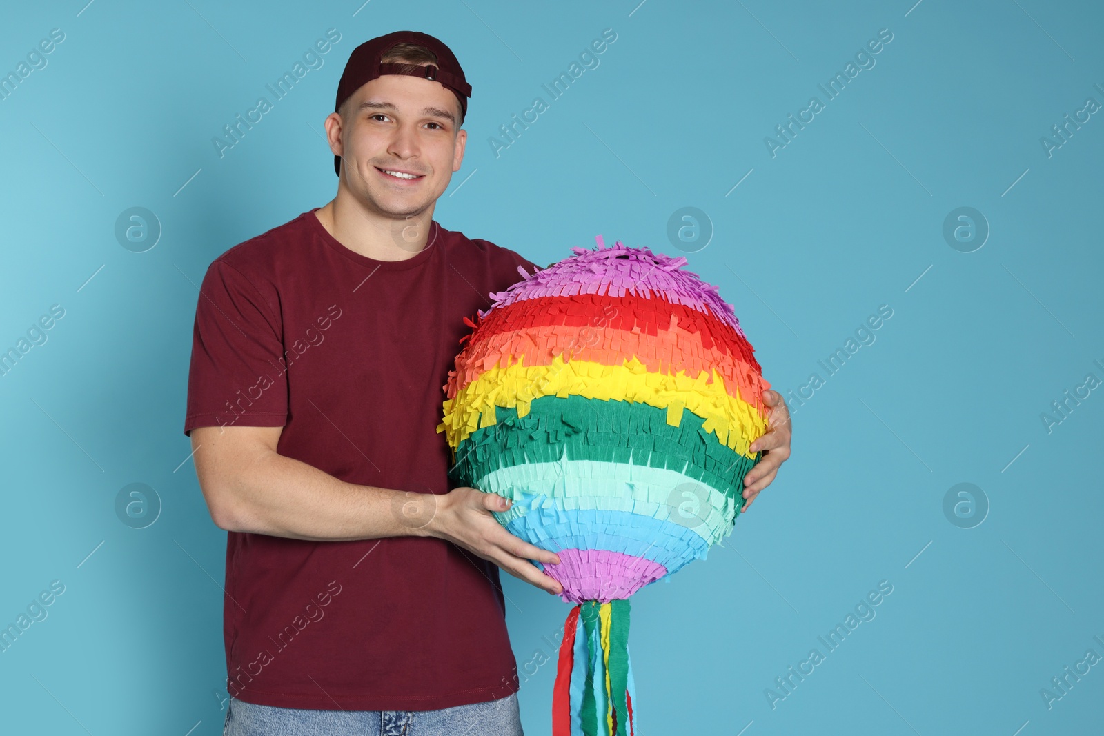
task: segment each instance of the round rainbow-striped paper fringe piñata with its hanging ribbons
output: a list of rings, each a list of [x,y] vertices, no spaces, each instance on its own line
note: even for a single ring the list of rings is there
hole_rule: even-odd
[[[627,598],[731,534],[758,460],[749,446],[767,429],[769,384],[718,288],[681,256],[595,239],[519,268],[466,320],[437,427],[453,481],[512,499],[495,516],[560,556],[534,564],[578,604],[555,736],[633,733]]]

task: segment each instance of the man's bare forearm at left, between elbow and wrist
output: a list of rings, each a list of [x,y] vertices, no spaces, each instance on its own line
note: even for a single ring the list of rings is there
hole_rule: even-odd
[[[348,483],[268,449],[236,468],[204,488],[212,518],[230,531],[320,542],[425,536],[437,499]]]

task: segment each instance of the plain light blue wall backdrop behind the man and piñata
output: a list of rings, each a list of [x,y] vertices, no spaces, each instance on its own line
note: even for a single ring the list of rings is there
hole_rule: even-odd
[[[699,207],[714,234],[690,269],[735,305],[783,392],[893,309],[790,399],[793,459],[725,547],[633,598],[639,733],[1100,728],[1104,664],[1051,710],[1040,695],[1104,655],[1104,396],[1051,433],[1040,418],[1104,378],[1104,117],[1051,158],[1040,143],[1104,103],[1098,4],[85,1],[6,3],[0,23],[4,72],[65,33],[0,100],[0,348],[65,309],[0,377],[0,623],[65,585],[0,653],[4,733],[221,733],[225,535],[181,431],[197,285],[333,196],[321,122],[343,63],[402,29],[450,44],[474,86],[445,226],[541,264],[599,233],[679,255],[668,217]],[[211,138],[330,28],[325,65],[220,159]],[[498,126],[606,28],[601,65],[496,158]],[[883,28],[877,65],[772,158],[764,137]],[[163,227],[146,253],[115,239],[131,206]],[[991,227],[973,253],[942,235],[959,206]],[[163,505],[144,530],[115,514],[130,482]],[[974,529],[943,512],[959,482],[990,504]],[[522,684],[526,733],[549,734],[569,607],[502,578],[523,674],[548,658]],[[764,690],[880,580],[877,618],[772,710]]]

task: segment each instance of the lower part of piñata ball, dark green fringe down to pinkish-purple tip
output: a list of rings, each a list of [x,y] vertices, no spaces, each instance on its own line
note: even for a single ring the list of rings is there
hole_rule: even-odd
[[[675,427],[660,408],[571,395],[534,399],[524,417],[498,413],[460,442],[450,479],[511,499],[493,512],[511,534],[561,561],[581,556],[534,563],[565,602],[626,598],[704,559],[732,533],[757,459],[718,442],[691,412]]]

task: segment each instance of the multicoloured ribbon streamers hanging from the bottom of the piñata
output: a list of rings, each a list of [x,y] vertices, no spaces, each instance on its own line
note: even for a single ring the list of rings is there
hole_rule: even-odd
[[[636,735],[628,629],[628,600],[587,600],[567,614],[552,690],[552,736]]]

